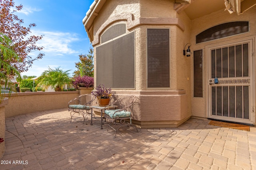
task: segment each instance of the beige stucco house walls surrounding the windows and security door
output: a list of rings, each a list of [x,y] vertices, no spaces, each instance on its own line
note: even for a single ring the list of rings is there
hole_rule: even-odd
[[[195,5],[196,4],[196,5]],[[94,78],[97,84],[97,47],[100,37],[108,28],[116,23],[126,23],[126,34],[135,34],[135,88],[113,89],[116,96],[136,95],[140,98],[140,106],[134,114],[134,122],[141,127],[174,127],[191,116],[208,118],[210,112],[208,101],[207,66],[209,56],[207,49],[211,45],[234,43],[238,39],[253,39],[255,50],[256,3],[242,0],[241,14],[230,14],[225,11],[222,0],[204,2],[202,0],[95,0],[84,18],[84,26],[94,47]],[[204,9],[206,8],[206,9]],[[207,10],[208,9],[208,10]],[[238,35],[206,41],[196,44],[196,35],[202,31],[231,21],[249,21],[250,31]],[[170,29],[170,87],[147,87],[147,29]],[[192,55],[186,57],[182,51],[190,43]],[[186,46],[186,49],[188,46]],[[203,96],[194,97],[194,57],[193,51],[201,50],[203,55]],[[255,81],[254,75],[251,80]],[[100,82],[104,84],[104,82]],[[241,85],[238,85],[241,86]],[[254,86],[255,83],[251,84]],[[254,96],[250,101],[255,102]],[[250,104],[252,105],[252,104]],[[250,106],[250,116],[255,119],[255,103]],[[251,121],[251,120],[250,120]],[[254,121],[255,122],[255,121]]]

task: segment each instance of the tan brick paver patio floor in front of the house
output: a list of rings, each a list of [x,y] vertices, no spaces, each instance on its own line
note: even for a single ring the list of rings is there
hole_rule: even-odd
[[[82,118],[70,122],[67,109],[18,115],[6,119],[0,169],[256,169],[256,127],[248,132],[209,121],[191,118],[178,128],[138,133],[125,127],[114,139],[107,125],[100,129],[100,119],[93,125],[89,119],[83,124]]]

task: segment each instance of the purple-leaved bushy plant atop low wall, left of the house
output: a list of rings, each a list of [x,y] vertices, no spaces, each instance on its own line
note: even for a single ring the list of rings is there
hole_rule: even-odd
[[[93,87],[94,78],[90,76],[76,76],[72,80],[74,88],[78,87]]]

